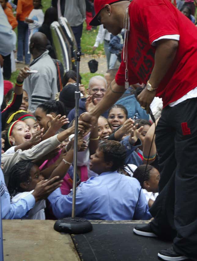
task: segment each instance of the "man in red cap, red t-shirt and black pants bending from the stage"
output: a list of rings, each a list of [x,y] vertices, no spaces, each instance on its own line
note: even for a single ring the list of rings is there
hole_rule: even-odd
[[[124,93],[125,82],[147,84],[137,97],[147,112],[155,96],[162,98],[156,128],[161,178],[150,209],[155,219],[134,232],[173,238],[172,247],[158,253],[162,260],[197,260],[197,29],[169,0],[95,0],[94,8],[91,25],[103,24],[113,35],[128,29],[128,58],[102,101],[81,119],[96,123]]]

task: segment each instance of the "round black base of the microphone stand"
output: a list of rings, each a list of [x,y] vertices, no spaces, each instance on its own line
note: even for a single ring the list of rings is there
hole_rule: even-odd
[[[54,230],[68,234],[83,234],[92,231],[92,224],[86,219],[69,217],[58,219],[54,224]]]

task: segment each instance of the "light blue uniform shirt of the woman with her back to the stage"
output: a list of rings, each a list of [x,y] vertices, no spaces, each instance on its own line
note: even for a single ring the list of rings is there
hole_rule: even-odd
[[[150,219],[147,200],[140,188],[137,179],[117,171],[91,177],[76,190],[76,216],[104,220]],[[134,214],[139,193],[140,200]],[[58,188],[48,199],[58,219],[71,216],[72,192],[62,195]]]

